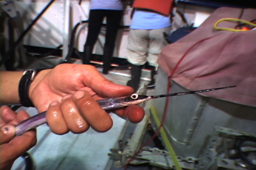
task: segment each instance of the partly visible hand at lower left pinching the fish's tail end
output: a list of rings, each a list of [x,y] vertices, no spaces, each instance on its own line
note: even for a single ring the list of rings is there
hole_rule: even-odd
[[[0,108],[0,170],[9,170],[15,159],[36,144],[35,130],[29,130],[15,136],[15,127],[19,122],[29,118],[25,111],[17,114],[7,106]],[[8,128],[8,130],[6,130]]]

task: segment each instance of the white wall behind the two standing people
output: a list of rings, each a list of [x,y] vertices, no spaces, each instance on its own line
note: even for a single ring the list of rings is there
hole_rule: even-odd
[[[15,8],[20,13],[20,17],[23,20],[24,28],[37,16],[41,10],[47,6],[49,0],[22,0],[15,1]],[[70,32],[72,28],[81,20],[87,20],[90,9],[90,0],[83,0],[81,6],[79,6],[79,0],[71,0],[70,8]],[[178,5],[189,23],[195,23],[195,18],[209,15],[213,9],[202,8],[195,6]],[[131,7],[127,6],[124,12],[122,21],[123,26],[130,26],[131,24]],[[198,15],[200,14],[200,15]],[[203,17],[203,19],[204,19]],[[174,30],[182,27],[184,24],[181,22],[180,17],[177,15],[173,22]],[[64,1],[56,0],[52,6],[46,11],[40,20],[35,24],[32,30],[24,39],[24,45],[32,45],[46,48],[56,48],[58,45],[63,44],[63,32],[64,32]],[[115,57],[126,58],[126,46],[128,44],[129,30],[119,30],[116,40]],[[105,29],[99,35],[98,41],[95,45],[95,54],[102,54],[102,47],[105,42]],[[83,46],[87,37],[87,25],[80,26],[77,31],[76,48],[79,51],[83,51]]]

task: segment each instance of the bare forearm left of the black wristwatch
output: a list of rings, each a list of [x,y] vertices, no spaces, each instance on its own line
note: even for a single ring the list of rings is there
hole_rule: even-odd
[[[0,105],[19,104],[18,85],[22,71],[0,71]]]

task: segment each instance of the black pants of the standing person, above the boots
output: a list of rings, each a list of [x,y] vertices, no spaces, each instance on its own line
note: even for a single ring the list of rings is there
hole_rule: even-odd
[[[88,34],[84,46],[94,46],[99,36],[104,17],[107,19],[105,45],[114,48],[117,31],[122,20],[122,11],[116,10],[90,10]]]

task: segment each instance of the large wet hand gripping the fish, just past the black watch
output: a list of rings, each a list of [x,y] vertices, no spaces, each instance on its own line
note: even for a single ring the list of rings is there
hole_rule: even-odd
[[[61,64],[41,71],[32,82],[29,98],[39,112],[47,109],[47,123],[58,134],[82,133],[90,126],[99,132],[109,130],[112,119],[96,100],[128,96],[133,89],[105,79],[91,65]],[[116,109],[131,122],[140,122],[145,112],[139,106]]]

